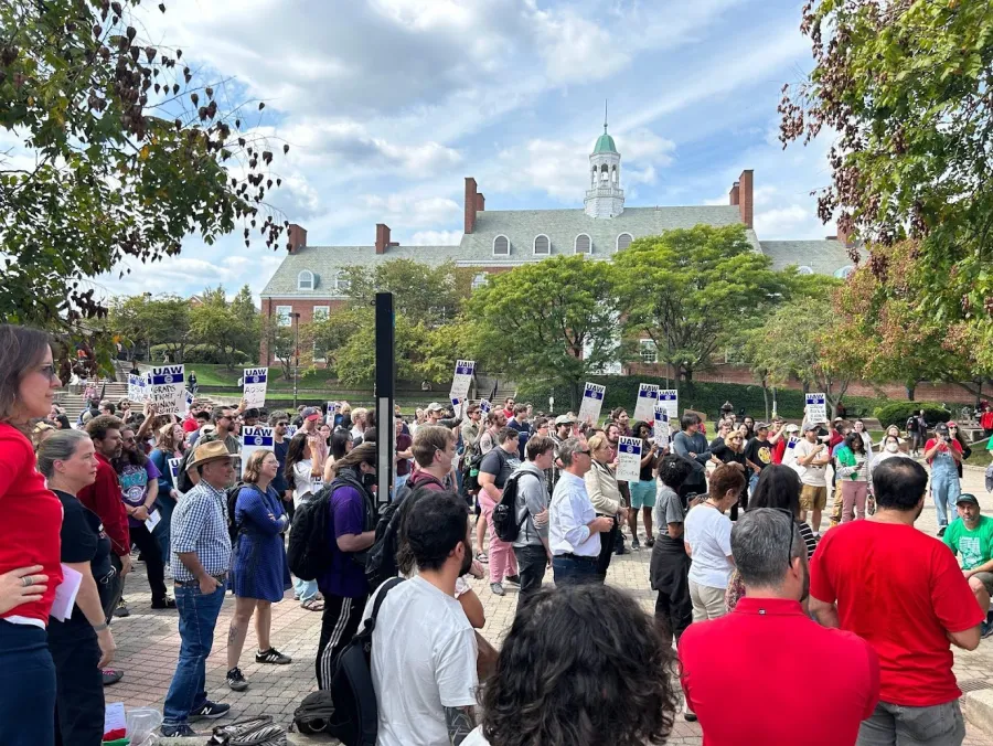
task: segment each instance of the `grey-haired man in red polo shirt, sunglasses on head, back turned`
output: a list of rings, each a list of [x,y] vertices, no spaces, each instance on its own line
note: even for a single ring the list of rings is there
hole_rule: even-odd
[[[854,744],[879,701],[879,659],[858,636],[804,614],[810,575],[796,520],[752,509],[732,531],[732,552],[745,597],[730,614],[690,625],[680,638],[683,690],[704,746]],[[810,661],[830,661],[812,688]]]

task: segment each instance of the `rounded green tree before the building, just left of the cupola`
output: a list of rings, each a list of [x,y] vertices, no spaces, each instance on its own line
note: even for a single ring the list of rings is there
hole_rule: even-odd
[[[563,384],[573,407],[584,381],[617,360],[618,303],[606,262],[556,256],[493,275],[472,294],[467,316],[478,361]]]

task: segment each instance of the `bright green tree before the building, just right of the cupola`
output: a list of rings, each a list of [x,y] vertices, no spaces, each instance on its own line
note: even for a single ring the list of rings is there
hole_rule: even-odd
[[[659,362],[692,382],[788,292],[789,277],[771,265],[743,225],[639,238],[613,258],[624,332],[651,339]]]

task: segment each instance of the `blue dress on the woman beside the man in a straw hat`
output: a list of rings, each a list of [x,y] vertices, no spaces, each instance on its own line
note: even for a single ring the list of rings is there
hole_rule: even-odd
[[[255,486],[242,488],[235,502],[238,536],[232,560],[232,588],[239,598],[282,600],[290,587],[282,534],[288,519],[282,500],[269,486],[265,494]]]

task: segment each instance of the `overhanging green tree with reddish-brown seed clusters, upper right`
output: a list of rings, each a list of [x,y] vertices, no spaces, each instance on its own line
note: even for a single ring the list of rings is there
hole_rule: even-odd
[[[801,30],[814,67],[783,88],[783,147],[837,134],[821,217],[872,242],[887,319],[920,322],[921,339],[943,328],[940,347],[974,354],[981,375],[993,369],[993,4],[809,0]],[[914,251],[891,265],[885,247],[904,238]],[[927,281],[901,297],[915,277]]]

